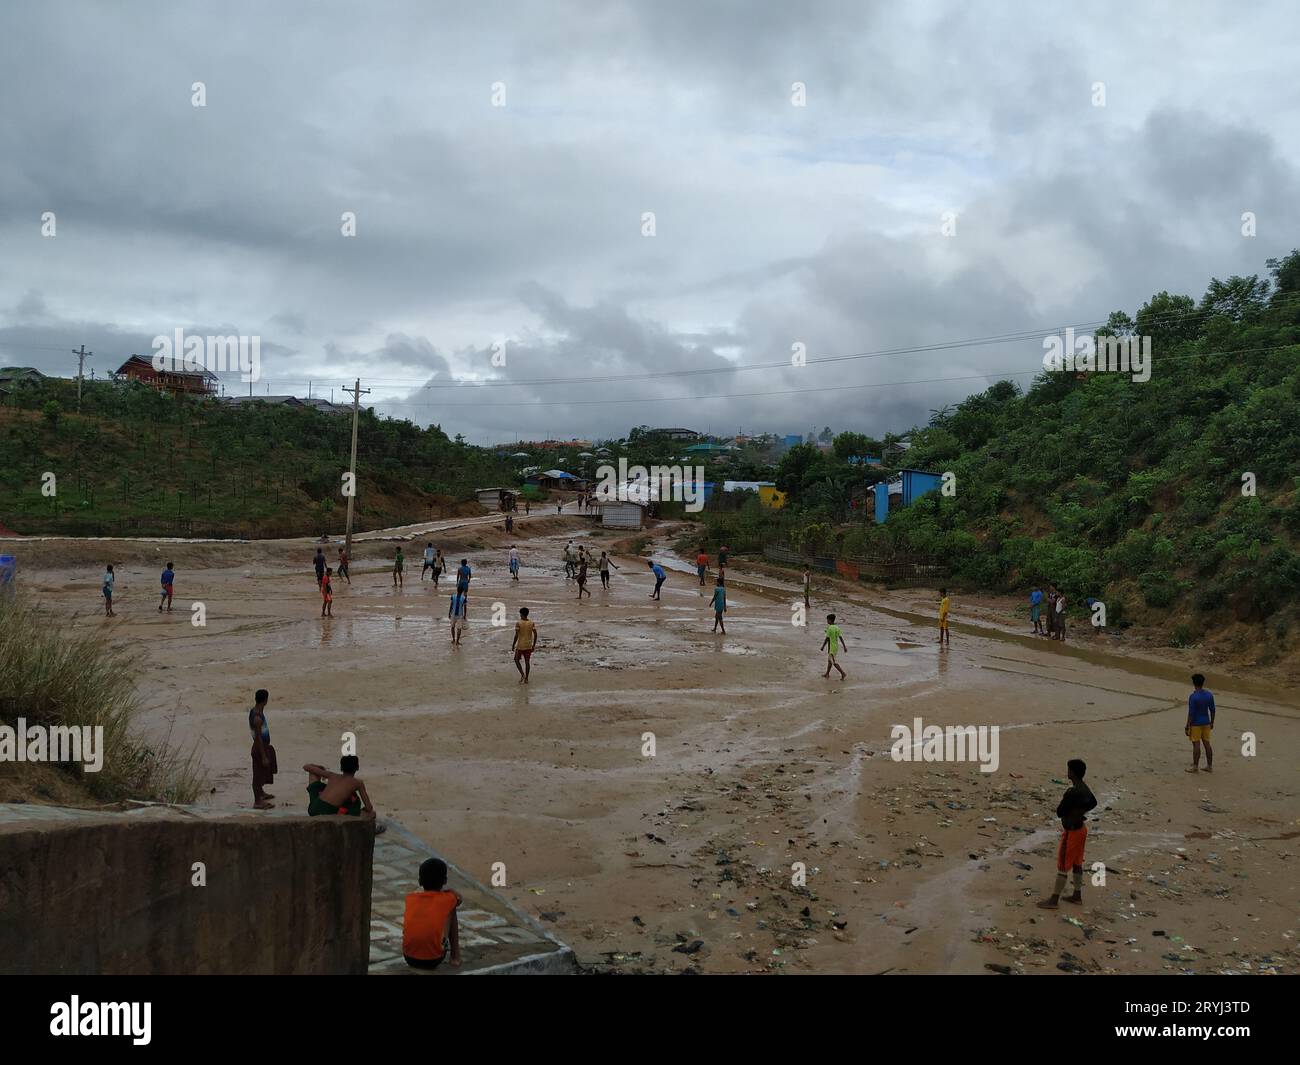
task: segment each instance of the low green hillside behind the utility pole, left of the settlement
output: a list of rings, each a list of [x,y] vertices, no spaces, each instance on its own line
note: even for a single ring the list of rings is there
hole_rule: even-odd
[[[348,415],[162,395],[140,384],[18,385],[0,406],[0,525],[73,536],[296,536],[343,525]],[[43,475],[56,494],[42,494]],[[356,523],[451,515],[510,476],[438,427],[363,410]]]

